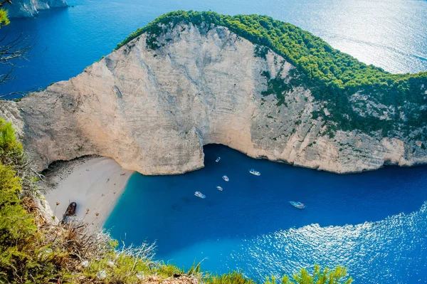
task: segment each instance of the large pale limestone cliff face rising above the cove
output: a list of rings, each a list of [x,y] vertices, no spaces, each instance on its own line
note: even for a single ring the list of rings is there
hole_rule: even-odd
[[[303,86],[278,104],[267,95],[266,71],[288,82],[295,68],[271,51],[257,55],[227,28],[176,26],[155,51],[146,39],[21,102],[1,102],[0,115],[19,128],[38,169],[100,154],[142,174],[179,174],[203,167],[210,143],[337,173],[427,162],[426,142],[411,137],[330,135],[312,116],[328,110]]]

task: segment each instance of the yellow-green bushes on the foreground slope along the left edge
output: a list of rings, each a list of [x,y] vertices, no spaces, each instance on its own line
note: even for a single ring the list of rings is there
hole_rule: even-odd
[[[30,188],[22,188],[33,184],[26,169],[11,123],[0,119],[0,283],[48,283],[60,271],[43,257],[48,246],[30,212]]]

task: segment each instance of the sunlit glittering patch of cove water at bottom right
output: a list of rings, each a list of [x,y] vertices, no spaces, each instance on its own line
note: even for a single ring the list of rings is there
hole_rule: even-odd
[[[268,271],[280,277],[317,263],[344,265],[358,283],[425,283],[427,228],[422,224],[426,219],[427,202],[419,211],[384,221],[291,228],[245,240],[226,265],[238,268],[245,261],[246,273],[259,279]]]

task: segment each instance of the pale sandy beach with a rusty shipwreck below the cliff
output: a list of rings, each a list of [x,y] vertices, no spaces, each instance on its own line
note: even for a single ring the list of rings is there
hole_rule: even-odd
[[[63,162],[46,174],[44,194],[58,219],[62,219],[68,204],[74,201],[77,203],[76,218],[101,228],[132,173],[105,157]],[[88,214],[86,209],[89,209]]]

